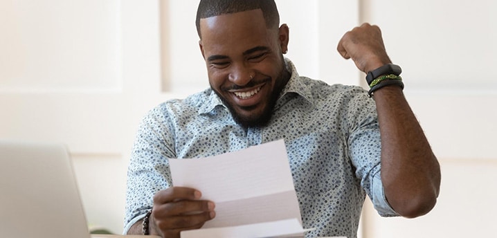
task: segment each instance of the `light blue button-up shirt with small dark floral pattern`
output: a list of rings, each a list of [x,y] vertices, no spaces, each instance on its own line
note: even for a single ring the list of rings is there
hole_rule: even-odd
[[[138,129],[129,164],[125,231],[172,186],[168,158],[199,158],[284,139],[306,237],[356,237],[365,195],[395,216],[380,178],[381,143],[374,101],[359,86],[298,75],[278,98],[269,124],[244,128],[212,89],[152,109]],[[246,178],[250,179],[250,178]]]

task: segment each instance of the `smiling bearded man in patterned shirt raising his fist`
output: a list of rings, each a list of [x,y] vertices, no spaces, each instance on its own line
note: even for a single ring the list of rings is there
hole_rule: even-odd
[[[382,216],[435,205],[440,167],[402,93],[377,26],[338,52],[370,72],[372,90],[300,77],[273,0],[202,0],[199,46],[210,89],[145,116],[129,165],[125,233],[179,237],[215,219],[201,191],[172,186],[168,158],[198,158],[284,138],[307,237],[356,237],[365,194]],[[381,136],[380,136],[381,135]],[[208,171],[206,171],[208,173]],[[250,179],[250,178],[246,178]]]

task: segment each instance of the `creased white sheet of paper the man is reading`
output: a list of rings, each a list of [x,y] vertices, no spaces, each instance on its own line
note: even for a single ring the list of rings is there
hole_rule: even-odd
[[[202,228],[296,219],[303,232],[283,140],[208,158],[170,159],[170,169],[174,186],[195,188],[214,201],[216,217]],[[273,235],[295,233],[274,224]]]

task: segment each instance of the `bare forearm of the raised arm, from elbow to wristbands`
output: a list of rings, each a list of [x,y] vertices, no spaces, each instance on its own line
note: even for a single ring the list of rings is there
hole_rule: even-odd
[[[398,86],[374,92],[381,133],[381,181],[404,217],[429,212],[440,189],[440,165]]]

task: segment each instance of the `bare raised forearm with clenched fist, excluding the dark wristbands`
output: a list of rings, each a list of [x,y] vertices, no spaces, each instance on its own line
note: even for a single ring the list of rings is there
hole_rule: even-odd
[[[363,24],[346,33],[338,52],[368,73],[390,59],[377,26]],[[401,216],[429,212],[440,190],[440,165],[399,86],[374,92],[381,134],[381,182],[388,203]]]

